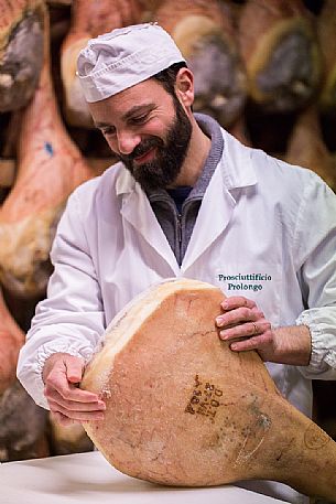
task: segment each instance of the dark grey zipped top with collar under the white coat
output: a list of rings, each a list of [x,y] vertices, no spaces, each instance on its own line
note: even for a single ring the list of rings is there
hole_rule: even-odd
[[[164,189],[147,193],[180,266],[194,229],[202,199],[224,149],[224,139],[218,122],[204,114],[195,114],[195,118],[205,135],[212,139],[212,147],[195,186],[182,205],[181,214],[174,200]]]

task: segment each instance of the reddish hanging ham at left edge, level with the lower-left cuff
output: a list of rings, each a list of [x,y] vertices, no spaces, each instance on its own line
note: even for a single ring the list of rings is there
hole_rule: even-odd
[[[23,343],[24,333],[9,312],[0,290],[0,395],[15,380],[19,350]]]

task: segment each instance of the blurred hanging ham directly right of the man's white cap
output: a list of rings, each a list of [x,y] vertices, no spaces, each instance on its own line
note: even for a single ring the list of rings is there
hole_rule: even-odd
[[[246,99],[246,74],[228,6],[217,0],[164,0],[153,19],[175,40],[195,76],[196,111],[231,125]]]

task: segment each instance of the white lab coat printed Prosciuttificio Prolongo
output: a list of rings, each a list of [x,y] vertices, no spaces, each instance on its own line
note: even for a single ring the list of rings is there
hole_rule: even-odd
[[[47,407],[46,357],[67,352],[89,360],[115,314],[171,277],[253,299],[274,326],[310,326],[310,366],[268,364],[281,393],[304,414],[312,408],[306,378],[336,379],[336,196],[315,173],[223,135],[223,158],[181,267],[145,194],[121,164],[72,194],[52,249],[48,299],[19,358],[19,379],[37,404]],[[292,491],[275,487],[275,496],[293,502]]]

